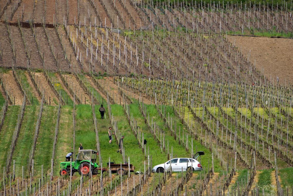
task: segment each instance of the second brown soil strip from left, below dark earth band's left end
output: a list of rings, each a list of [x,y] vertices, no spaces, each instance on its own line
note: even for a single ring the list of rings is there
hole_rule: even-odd
[[[25,54],[23,41],[21,40],[21,34],[17,26],[10,26],[11,38],[16,49],[16,67],[26,68],[28,64],[28,58]]]

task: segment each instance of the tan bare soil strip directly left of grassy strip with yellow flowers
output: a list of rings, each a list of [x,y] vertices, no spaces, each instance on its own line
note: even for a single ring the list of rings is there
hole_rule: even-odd
[[[38,82],[37,82],[37,76],[38,76]],[[45,100],[47,101],[48,104],[49,100],[51,99],[51,105],[57,105],[58,103],[58,98],[55,96],[53,90],[49,86],[45,76],[43,73],[35,73],[35,80],[38,83],[38,87],[40,91],[44,91],[45,93]]]

